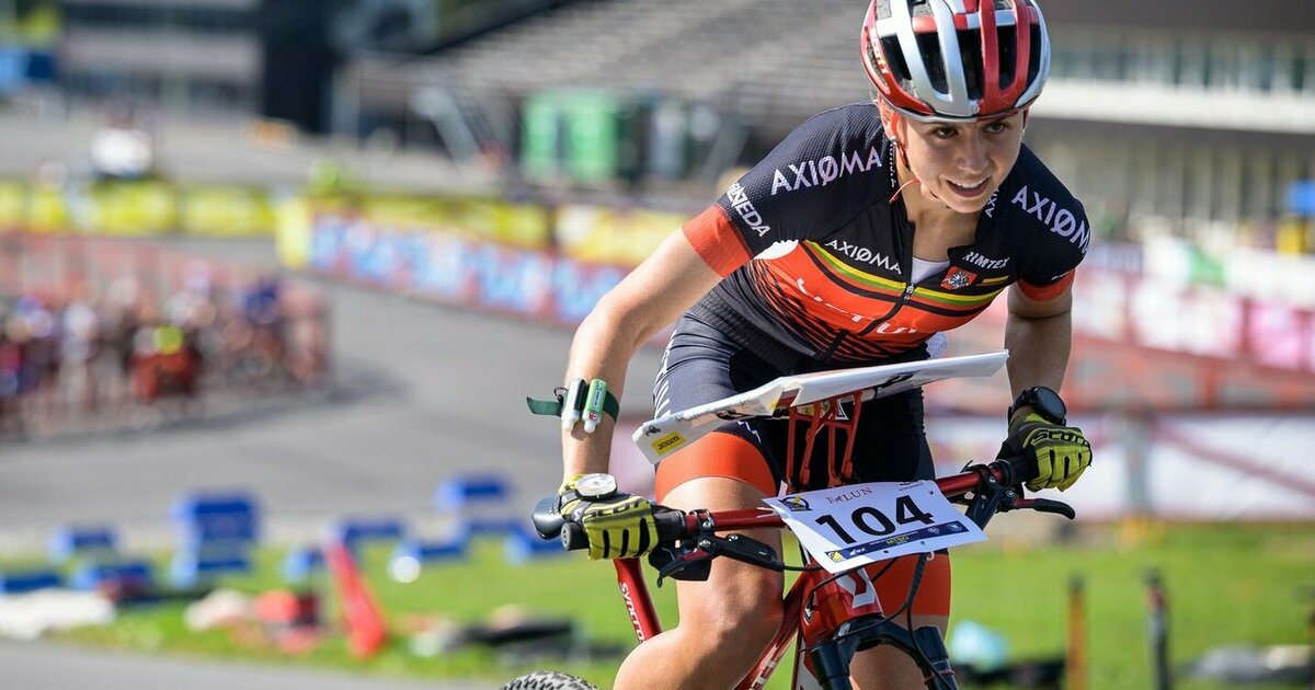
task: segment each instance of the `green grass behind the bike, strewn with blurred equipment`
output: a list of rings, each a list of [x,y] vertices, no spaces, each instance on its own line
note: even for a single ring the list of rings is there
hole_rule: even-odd
[[[1144,578],[1155,569],[1168,589],[1170,655],[1176,665],[1223,644],[1308,644],[1307,624],[1315,609],[1311,598],[1315,528],[1310,524],[1152,526],[1136,543],[1120,535],[1124,532],[1114,528],[1091,528],[1066,543],[999,538],[957,549],[953,620],[973,619],[999,631],[1014,657],[1061,653],[1068,586],[1070,580],[1081,577],[1086,593],[1089,687],[1151,687]],[[476,623],[500,606],[517,605],[542,616],[569,616],[594,641],[634,644],[613,570],[606,564],[563,557],[508,565],[500,544],[481,543],[467,563],[431,565],[416,582],[398,584],[384,574],[385,555],[383,551],[367,555],[366,573],[394,631],[423,616]],[[280,559],[279,552],[263,552],[256,576],[226,584],[246,591],[283,586],[277,574]],[[325,591],[322,577],[316,584]],[[675,620],[672,587],[655,590],[655,598],[664,620]],[[414,656],[405,635],[396,635],[384,653],[368,661],[351,658],[339,635],[309,655],[285,657],[251,641],[234,641],[226,632],[188,632],[181,611],[180,603],[132,609],[113,626],[60,637],[80,644],[251,657],[388,676],[493,681],[531,670],[508,665],[487,649]],[[326,615],[333,619],[331,606],[326,607]],[[619,658],[533,665],[568,670],[606,686],[617,664]],[[782,669],[769,687],[788,685]],[[1226,685],[1185,681],[1176,687],[1222,690]]]

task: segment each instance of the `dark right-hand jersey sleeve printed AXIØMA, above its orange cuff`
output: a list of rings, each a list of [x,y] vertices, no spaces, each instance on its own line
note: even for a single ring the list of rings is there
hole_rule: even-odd
[[[1090,226],[1086,209],[1051,168],[1023,146],[1014,170],[988,202],[986,210],[1007,226],[1019,247],[1066,246],[1086,254]]]

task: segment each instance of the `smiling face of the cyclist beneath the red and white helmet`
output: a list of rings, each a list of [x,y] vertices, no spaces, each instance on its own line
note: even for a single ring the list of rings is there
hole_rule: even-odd
[[[985,122],[905,122],[909,167],[923,197],[959,213],[986,206],[1023,145],[1022,113]]]

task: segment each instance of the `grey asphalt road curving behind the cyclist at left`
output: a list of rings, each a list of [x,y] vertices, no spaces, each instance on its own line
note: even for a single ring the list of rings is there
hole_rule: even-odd
[[[274,264],[266,243],[174,247]],[[360,288],[322,288],[333,304],[337,373],[330,394],[195,427],[0,448],[0,555],[42,549],[57,526],[83,522],[117,526],[124,551],[159,548],[168,543],[171,502],[196,489],[254,492],[268,536],[296,541],[313,539],[345,515],[434,519],[434,488],[458,472],[502,471],[515,510],[527,511],[556,488],[556,425],[530,415],[523,401],[558,385],[569,333]],[[633,363],[623,411],[648,411],[658,357],[646,351]],[[205,678],[224,678],[229,665],[26,645],[0,647],[0,668],[4,686],[16,689],[346,687],[317,677],[292,685],[277,681],[281,674],[204,685]],[[120,685],[107,686],[110,677]],[[352,687],[402,686],[354,681]]]

